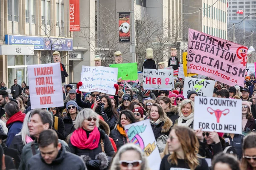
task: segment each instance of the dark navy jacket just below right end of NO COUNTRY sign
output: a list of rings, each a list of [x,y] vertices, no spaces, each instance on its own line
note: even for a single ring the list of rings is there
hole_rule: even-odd
[[[243,144],[244,135],[243,134],[235,134],[233,139],[231,138],[231,136],[224,136],[224,138],[230,139],[230,146],[235,147],[237,157],[240,160],[242,158],[242,144]]]

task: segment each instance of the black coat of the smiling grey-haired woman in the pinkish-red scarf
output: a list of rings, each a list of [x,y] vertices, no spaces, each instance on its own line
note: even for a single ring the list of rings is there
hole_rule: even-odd
[[[104,143],[104,151],[106,155],[108,156],[109,162],[111,162],[112,156],[115,154],[115,151],[113,149],[113,146],[108,138],[108,135],[106,133],[99,129],[100,132],[100,139],[102,139],[102,142]],[[78,156],[88,156],[89,158],[87,160],[95,160],[95,157],[99,154],[102,153],[102,147],[101,147],[101,140],[99,140],[99,145],[97,148],[90,150],[90,149],[79,149],[71,144],[71,142],[68,143],[70,147],[70,152],[74,153]],[[83,158],[84,159],[84,158]],[[86,162],[87,160],[84,159]],[[85,163],[86,164],[86,163]],[[109,163],[110,164],[110,163]],[[108,165],[109,165],[108,164]],[[99,170],[99,168],[95,167],[90,167],[88,164],[86,164],[88,170]]]

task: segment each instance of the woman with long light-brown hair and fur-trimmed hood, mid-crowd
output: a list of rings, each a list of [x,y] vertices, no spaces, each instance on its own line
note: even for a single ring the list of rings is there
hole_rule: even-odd
[[[172,128],[172,120],[167,117],[163,108],[157,103],[151,106],[145,119],[149,119],[156,141],[160,136],[168,135]]]

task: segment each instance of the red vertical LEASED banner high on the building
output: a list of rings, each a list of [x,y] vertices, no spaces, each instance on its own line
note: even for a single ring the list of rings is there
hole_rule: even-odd
[[[80,31],[79,0],[69,0],[70,31]]]

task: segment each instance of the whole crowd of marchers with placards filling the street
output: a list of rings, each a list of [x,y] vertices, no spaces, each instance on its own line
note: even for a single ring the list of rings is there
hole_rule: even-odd
[[[112,91],[107,92],[106,85],[105,93],[91,90],[93,86],[86,83],[93,79],[81,78],[76,88],[56,85],[61,95],[48,103],[48,98],[35,98],[42,93],[35,92],[38,78],[32,83],[29,77],[30,87],[26,82],[18,85],[17,79],[10,88],[1,82],[0,168],[256,170],[255,73],[232,85],[189,70],[181,78],[175,48],[167,69],[164,62],[157,63],[157,69],[152,49],[146,52],[142,72],[137,73],[136,64],[135,79],[116,76],[109,80]],[[47,67],[59,69],[59,54],[53,55],[55,63]],[[116,64],[125,64],[120,51],[114,57]],[[117,71],[115,64],[101,67],[100,57],[95,64],[83,66],[83,74],[97,67],[109,74]],[[36,73],[37,67],[35,75],[40,71]],[[47,74],[54,74],[54,69]],[[41,70],[40,75],[44,74]],[[68,75],[63,64],[59,75],[65,82]],[[48,104],[52,107],[43,107]]]

